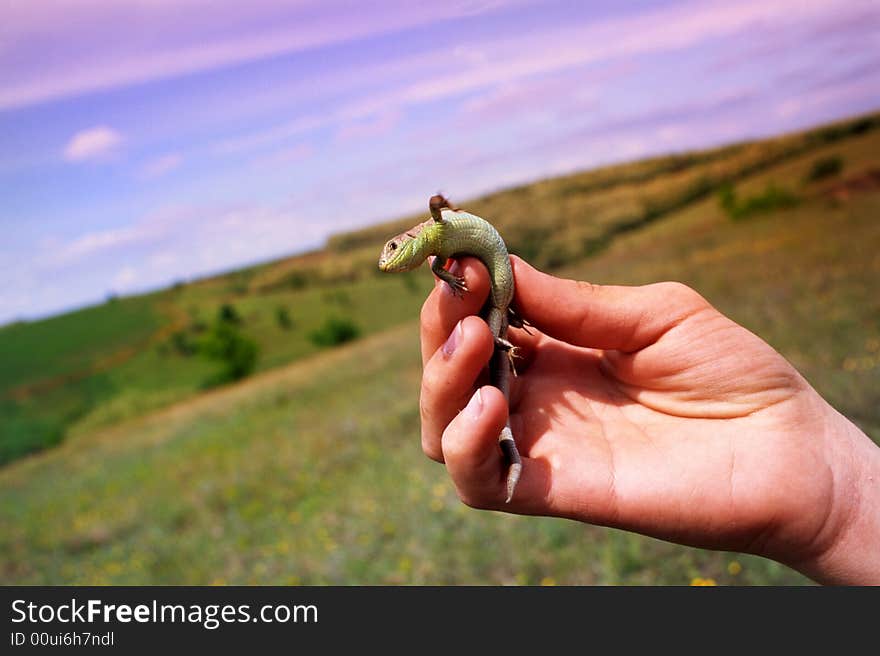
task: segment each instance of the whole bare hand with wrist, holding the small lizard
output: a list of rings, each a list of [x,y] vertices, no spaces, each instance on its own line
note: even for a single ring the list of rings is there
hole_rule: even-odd
[[[774,558],[818,580],[880,582],[880,449],[769,345],[678,283],[596,286],[512,258],[519,347],[510,420],[524,456],[504,503],[508,404],[471,293],[422,309],[422,446],[468,505],[614,526]]]

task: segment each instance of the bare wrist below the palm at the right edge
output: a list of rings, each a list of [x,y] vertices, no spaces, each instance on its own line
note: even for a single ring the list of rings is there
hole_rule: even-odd
[[[880,585],[880,447],[827,406],[826,438],[834,476],[830,536],[792,567],[819,583]]]

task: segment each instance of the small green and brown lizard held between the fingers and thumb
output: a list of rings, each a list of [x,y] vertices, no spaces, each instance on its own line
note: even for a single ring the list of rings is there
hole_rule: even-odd
[[[523,321],[513,312],[513,271],[507,246],[488,221],[450,206],[443,196],[432,196],[428,206],[431,218],[388,240],[379,258],[379,269],[386,272],[410,271],[434,255],[431,270],[446,282],[456,296],[468,291],[464,278],[446,270],[446,263],[460,255],[479,258],[489,270],[491,291],[483,309],[483,318],[495,338],[495,352],[489,363],[489,380],[510,398],[510,377],[515,347],[507,341],[508,326],[522,327]],[[510,420],[498,436],[501,451],[510,467],[507,471],[507,501],[522,471],[522,460],[510,430]]]

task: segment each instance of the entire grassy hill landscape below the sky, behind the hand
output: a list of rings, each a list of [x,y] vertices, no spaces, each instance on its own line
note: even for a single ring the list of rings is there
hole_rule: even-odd
[[[880,440],[878,125],[455,200],[560,275],[692,285]],[[2,582],[804,581],[757,558],[459,504],[416,438],[415,318],[431,278],[375,268],[415,218],[0,328]],[[220,365],[197,346],[224,305],[259,357],[255,375],[208,390]],[[328,317],[362,338],[322,347]]]

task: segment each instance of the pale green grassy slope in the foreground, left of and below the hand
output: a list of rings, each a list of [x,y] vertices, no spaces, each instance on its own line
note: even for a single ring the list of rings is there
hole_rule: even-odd
[[[461,505],[418,444],[417,332],[404,324],[0,472],[4,582],[802,581],[755,558]]]

